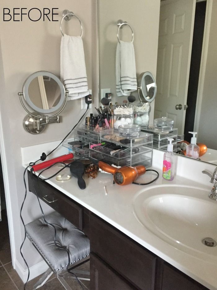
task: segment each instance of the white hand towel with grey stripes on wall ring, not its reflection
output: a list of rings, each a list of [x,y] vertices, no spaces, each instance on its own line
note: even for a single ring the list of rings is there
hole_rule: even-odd
[[[80,36],[64,34],[60,45],[60,78],[69,91],[68,100],[89,94],[83,41]]]

